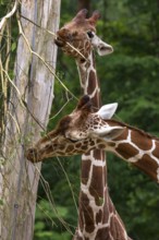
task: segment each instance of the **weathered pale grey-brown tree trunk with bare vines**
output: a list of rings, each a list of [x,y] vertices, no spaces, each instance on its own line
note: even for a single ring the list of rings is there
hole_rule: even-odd
[[[57,47],[53,36],[44,28],[57,32],[60,2],[22,0],[21,5],[22,29],[27,44],[50,65],[52,72],[56,69]],[[13,81],[19,91],[15,87],[11,89],[3,141],[1,240],[33,239],[40,164],[34,166],[27,161],[25,149],[40,137],[40,132],[46,128],[53,98],[54,76],[37,56],[30,53],[27,44],[21,35]]]

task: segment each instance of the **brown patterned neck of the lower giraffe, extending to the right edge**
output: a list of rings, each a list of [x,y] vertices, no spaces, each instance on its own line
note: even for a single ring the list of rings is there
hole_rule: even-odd
[[[159,182],[159,139],[139,129],[118,121],[107,121],[110,124],[126,127],[118,139],[106,147],[129,163],[132,163],[146,175]]]

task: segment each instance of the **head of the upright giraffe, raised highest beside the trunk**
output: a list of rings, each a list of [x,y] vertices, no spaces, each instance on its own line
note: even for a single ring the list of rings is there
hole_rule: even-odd
[[[100,17],[98,11],[95,11],[89,19],[86,19],[87,10],[81,10],[76,16],[66,23],[57,33],[56,44],[62,50],[82,62],[85,61],[91,49],[96,49],[100,56],[111,53],[112,47],[103,43],[96,35],[96,24]]]

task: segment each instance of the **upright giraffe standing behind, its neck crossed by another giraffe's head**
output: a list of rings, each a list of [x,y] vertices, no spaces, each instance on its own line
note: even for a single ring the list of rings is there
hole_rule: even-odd
[[[100,86],[93,50],[96,49],[100,56],[105,56],[111,53],[113,49],[96,35],[96,23],[100,17],[98,11],[95,11],[89,19],[86,19],[86,14],[87,10],[84,9],[80,11],[71,22],[58,31],[56,44],[61,47],[66,55],[75,58],[83,93],[91,98],[94,109],[99,109],[101,103]],[[98,170],[98,167],[95,168],[94,163],[96,163],[97,166],[105,167]],[[89,167],[93,169],[91,171],[89,171]],[[91,181],[89,181],[89,179],[91,179]],[[93,208],[89,205],[88,194],[95,200]],[[98,206],[101,201],[103,204],[99,211]],[[123,224],[121,224],[121,218],[117,214],[109,196],[106,156],[101,149],[94,149],[82,156],[78,205],[78,227],[74,239],[115,240],[119,236],[121,240],[127,239],[125,228]],[[115,217],[113,217],[113,215],[111,217],[109,208],[113,208]],[[98,218],[99,226],[101,223],[106,225],[99,228],[95,223],[96,218]],[[111,218],[111,221],[108,224],[107,220],[109,218]]]

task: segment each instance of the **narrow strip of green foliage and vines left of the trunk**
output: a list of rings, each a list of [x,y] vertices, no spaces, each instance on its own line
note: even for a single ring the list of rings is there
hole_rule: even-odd
[[[12,10],[12,3],[10,0],[0,1],[0,21],[1,19]],[[3,121],[5,119],[5,105],[9,103],[10,96],[10,83],[5,77],[5,70],[9,76],[13,79],[14,74],[14,61],[16,53],[16,40],[17,40],[17,23],[16,17],[13,15],[7,20],[5,27],[2,27],[0,32],[0,129],[3,132]],[[0,135],[1,141],[1,135]]]

